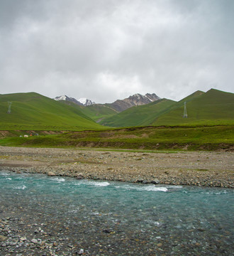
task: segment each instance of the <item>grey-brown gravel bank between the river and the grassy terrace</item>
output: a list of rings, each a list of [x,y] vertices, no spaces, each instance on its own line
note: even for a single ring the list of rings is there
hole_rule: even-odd
[[[74,178],[233,188],[233,153],[148,153],[0,146],[0,169]]]

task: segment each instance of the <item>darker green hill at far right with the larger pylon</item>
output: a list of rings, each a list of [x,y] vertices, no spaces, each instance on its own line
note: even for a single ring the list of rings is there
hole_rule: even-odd
[[[183,117],[184,102],[187,118]],[[152,125],[196,124],[234,124],[234,94],[211,89],[200,95],[190,95],[172,105],[167,113],[152,122]]]

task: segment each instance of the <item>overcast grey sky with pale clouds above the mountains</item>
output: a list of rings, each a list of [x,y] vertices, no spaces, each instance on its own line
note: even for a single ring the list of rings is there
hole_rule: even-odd
[[[0,0],[0,93],[234,92],[233,0]]]

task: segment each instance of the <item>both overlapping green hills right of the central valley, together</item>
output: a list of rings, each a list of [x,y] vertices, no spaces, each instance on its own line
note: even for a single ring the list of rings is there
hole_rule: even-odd
[[[184,118],[184,102],[187,118]],[[230,125],[234,124],[234,95],[214,89],[196,91],[179,102],[162,99],[130,107],[102,119],[100,124],[108,127]]]

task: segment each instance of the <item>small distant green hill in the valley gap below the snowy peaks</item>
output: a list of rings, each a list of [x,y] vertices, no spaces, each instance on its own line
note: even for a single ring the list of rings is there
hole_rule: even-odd
[[[113,110],[111,107],[101,104],[94,104],[87,107],[81,107],[82,112],[90,117],[95,122],[99,122],[99,120],[113,116],[113,114],[118,113],[116,110]]]

